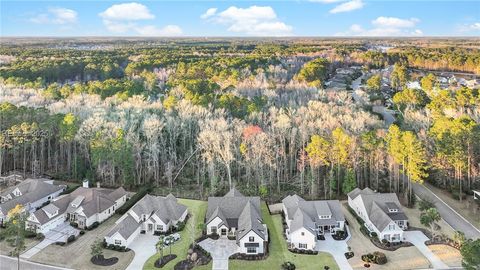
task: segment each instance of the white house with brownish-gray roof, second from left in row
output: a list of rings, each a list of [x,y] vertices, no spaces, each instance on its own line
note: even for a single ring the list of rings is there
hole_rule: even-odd
[[[122,188],[88,188],[88,183],[70,194],[60,196],[27,218],[27,228],[37,233],[50,231],[65,221],[80,229],[101,223],[127,200]]]

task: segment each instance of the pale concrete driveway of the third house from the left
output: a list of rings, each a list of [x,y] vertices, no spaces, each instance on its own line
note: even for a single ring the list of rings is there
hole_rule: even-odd
[[[135,252],[135,257],[128,265],[127,270],[143,269],[145,262],[157,252],[155,245],[158,239],[159,237],[156,235],[139,234],[128,246]]]

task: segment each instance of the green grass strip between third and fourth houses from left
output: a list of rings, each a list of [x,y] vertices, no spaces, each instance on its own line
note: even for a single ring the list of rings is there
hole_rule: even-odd
[[[188,199],[178,199],[178,202],[184,204],[188,207],[188,211],[190,213],[190,218],[187,221],[185,229],[180,232],[181,240],[172,245],[172,254],[176,254],[177,258],[170,261],[164,268],[165,269],[173,269],[175,264],[179,261],[185,260],[187,257],[187,252],[191,244],[191,234],[189,228],[191,226],[191,222],[195,222],[194,229],[195,229],[195,239],[199,238],[202,235],[202,230],[198,228],[197,224],[203,223],[203,219],[205,218],[205,214],[207,212],[207,202],[205,201],[197,201],[197,200],[188,200]],[[168,255],[170,249],[167,247],[164,249],[164,255]],[[143,269],[158,269],[154,266],[154,263],[157,259],[160,258],[160,254],[155,254],[150,257]]]

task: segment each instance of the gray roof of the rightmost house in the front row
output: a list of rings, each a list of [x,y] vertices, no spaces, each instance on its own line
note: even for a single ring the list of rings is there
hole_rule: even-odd
[[[370,191],[361,190],[357,197],[360,196],[370,221],[379,231],[383,231],[392,221],[408,220],[402,210],[400,201],[398,201],[397,194]],[[350,196],[350,193],[348,196]],[[398,209],[398,212],[389,212],[388,209]]]

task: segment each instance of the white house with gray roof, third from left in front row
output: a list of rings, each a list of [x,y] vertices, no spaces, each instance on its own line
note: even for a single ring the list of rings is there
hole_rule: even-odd
[[[185,205],[172,194],[166,197],[145,195],[105,236],[109,245],[127,247],[140,233],[161,234],[184,222],[188,215]]]

